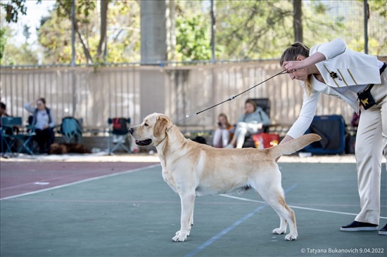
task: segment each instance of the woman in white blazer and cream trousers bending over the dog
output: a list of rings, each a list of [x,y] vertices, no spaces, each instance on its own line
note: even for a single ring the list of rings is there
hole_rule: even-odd
[[[387,159],[387,71],[375,56],[352,51],[341,39],[307,48],[295,43],[282,53],[281,67],[301,81],[303,106],[284,140],[298,138],[312,123],[319,95],[334,95],[362,115],[357,129],[355,157],[361,211],[342,231],[378,230],[381,157]],[[387,224],[379,231],[387,235]]]

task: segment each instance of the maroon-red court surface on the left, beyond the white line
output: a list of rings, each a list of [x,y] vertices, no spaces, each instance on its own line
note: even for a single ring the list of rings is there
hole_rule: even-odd
[[[0,199],[129,171],[154,162],[0,162]]]

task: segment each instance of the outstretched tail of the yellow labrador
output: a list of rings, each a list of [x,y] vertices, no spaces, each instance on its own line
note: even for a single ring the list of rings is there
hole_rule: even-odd
[[[321,140],[321,137],[317,134],[306,134],[301,136],[300,138],[293,139],[281,145],[276,145],[274,147],[267,148],[269,150],[269,155],[272,159],[276,159],[281,155],[293,154],[293,152],[297,152],[298,150],[303,149],[303,147],[313,143],[315,141]]]

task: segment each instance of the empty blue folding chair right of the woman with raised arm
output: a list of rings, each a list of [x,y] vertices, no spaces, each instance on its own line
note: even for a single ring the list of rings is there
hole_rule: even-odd
[[[64,117],[57,132],[61,134],[65,143],[71,143],[72,141],[75,141],[75,143],[82,142],[82,126],[80,121],[74,117]]]

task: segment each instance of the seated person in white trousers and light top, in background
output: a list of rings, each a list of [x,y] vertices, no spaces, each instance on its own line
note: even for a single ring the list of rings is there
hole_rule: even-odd
[[[242,148],[245,137],[260,132],[262,127],[270,124],[270,119],[261,107],[255,105],[253,100],[246,100],[245,113],[239,117],[234,131],[234,136],[227,148]]]

